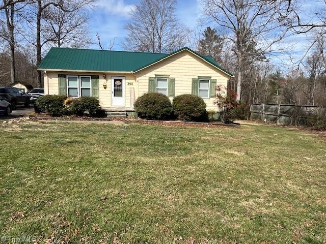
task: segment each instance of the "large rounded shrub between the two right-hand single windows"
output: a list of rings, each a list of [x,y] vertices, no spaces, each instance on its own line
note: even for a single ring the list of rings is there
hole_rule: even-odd
[[[192,94],[175,97],[173,112],[177,119],[183,121],[205,121],[208,119],[204,100]]]

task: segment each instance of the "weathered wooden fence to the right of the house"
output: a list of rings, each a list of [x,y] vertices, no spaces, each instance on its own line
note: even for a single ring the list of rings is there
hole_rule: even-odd
[[[326,112],[326,107],[264,103],[250,105],[251,120],[277,125],[307,126],[321,112]]]

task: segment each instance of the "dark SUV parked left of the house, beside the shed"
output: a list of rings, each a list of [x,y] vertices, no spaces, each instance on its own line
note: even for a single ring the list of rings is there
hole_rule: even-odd
[[[16,109],[17,105],[30,106],[29,95],[15,87],[0,87],[0,97],[3,97],[11,103],[12,109]]]

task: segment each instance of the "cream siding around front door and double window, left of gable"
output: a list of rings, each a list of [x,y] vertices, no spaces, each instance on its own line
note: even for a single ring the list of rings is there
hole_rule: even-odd
[[[103,78],[104,73],[82,73],[82,72],[50,72],[47,71],[44,74],[44,89],[45,94],[57,95],[59,93],[58,87],[58,74],[65,75],[98,75],[99,76],[99,100],[102,108],[105,109],[119,109],[119,108],[130,108],[130,88],[133,87],[135,90],[135,96],[137,96],[136,91],[137,83],[135,82],[135,77],[132,74],[123,73],[105,73],[105,79]],[[112,76],[124,76],[125,77],[125,106],[124,107],[111,107],[111,77]],[[48,82],[48,83],[47,83]],[[106,89],[103,87],[103,83],[106,82]],[[132,85],[131,85],[132,83]],[[48,86],[47,86],[48,84]]]

